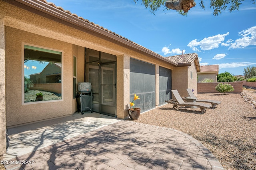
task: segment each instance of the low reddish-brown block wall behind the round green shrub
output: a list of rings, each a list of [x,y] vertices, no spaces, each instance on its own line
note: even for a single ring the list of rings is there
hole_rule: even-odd
[[[222,82],[218,82],[222,83]],[[218,83],[197,83],[197,93],[219,93],[215,90],[215,87],[218,85]],[[241,93],[243,92],[243,82],[242,81],[236,81],[236,82],[223,82],[231,84],[234,87],[234,91],[228,92],[228,93]]]

